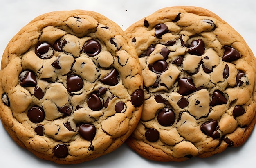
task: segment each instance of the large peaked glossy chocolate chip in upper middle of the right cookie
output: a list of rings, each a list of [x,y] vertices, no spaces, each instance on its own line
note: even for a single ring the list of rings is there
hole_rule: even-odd
[[[204,42],[202,39],[198,39],[195,41],[192,41],[192,43],[189,46],[188,53],[192,55],[203,55],[204,54]]]

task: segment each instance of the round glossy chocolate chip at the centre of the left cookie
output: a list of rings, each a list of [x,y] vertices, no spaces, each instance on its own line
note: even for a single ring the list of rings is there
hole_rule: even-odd
[[[83,88],[83,79],[77,75],[67,76],[67,92],[76,92]]]

